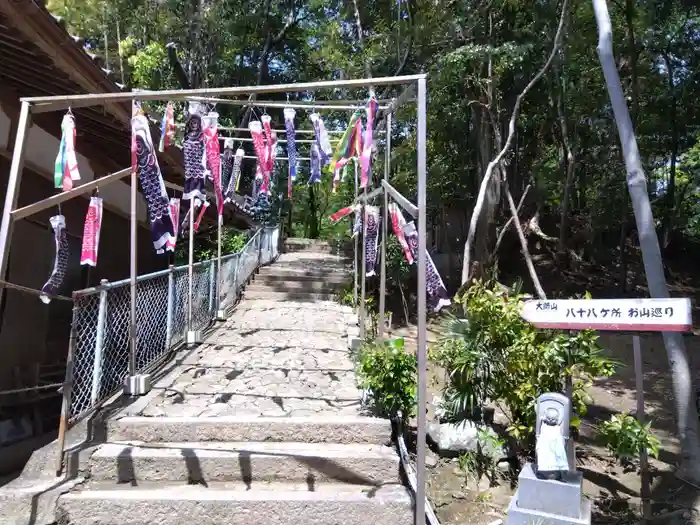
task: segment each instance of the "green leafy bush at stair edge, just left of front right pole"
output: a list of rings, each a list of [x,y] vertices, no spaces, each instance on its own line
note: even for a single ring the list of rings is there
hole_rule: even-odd
[[[365,343],[358,356],[360,386],[368,390],[373,407],[384,417],[401,411],[404,418],[415,412],[417,367],[415,356],[404,349],[401,338]]]

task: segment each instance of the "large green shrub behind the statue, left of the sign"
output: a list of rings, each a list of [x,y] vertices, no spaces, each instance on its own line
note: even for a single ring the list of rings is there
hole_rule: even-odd
[[[573,410],[585,414],[586,388],[609,376],[615,364],[601,354],[591,331],[573,335],[538,330],[520,317],[522,296],[475,282],[458,299],[464,317],[449,317],[431,357],[449,376],[442,407],[453,419],[478,412],[488,400],[502,404],[509,434],[533,442],[535,404],[544,392],[560,392],[573,381]],[[572,419],[572,425],[578,423]]]

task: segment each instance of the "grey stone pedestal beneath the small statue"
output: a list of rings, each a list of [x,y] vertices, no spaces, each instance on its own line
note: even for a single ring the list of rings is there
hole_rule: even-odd
[[[571,472],[562,481],[538,479],[528,463],[518,476],[506,525],[590,525],[591,502],[583,497],[582,482],[580,472]]]

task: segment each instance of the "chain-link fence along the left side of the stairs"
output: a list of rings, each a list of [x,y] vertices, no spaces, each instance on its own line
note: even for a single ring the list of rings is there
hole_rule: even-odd
[[[279,229],[261,228],[239,253],[192,265],[192,318],[189,312],[189,267],[142,275],[136,286],[137,373],[157,366],[182,344],[187,331],[202,331],[228,310],[241,287],[261,265],[278,255]],[[217,300],[218,290],[218,300]],[[102,281],[74,293],[72,341],[73,385],[68,421],[73,423],[119,391],[129,375],[130,281]]]

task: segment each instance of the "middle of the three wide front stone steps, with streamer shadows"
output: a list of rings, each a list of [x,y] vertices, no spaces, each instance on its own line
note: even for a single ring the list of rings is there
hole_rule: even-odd
[[[133,481],[399,483],[399,456],[383,445],[318,443],[108,443],[90,479]]]

